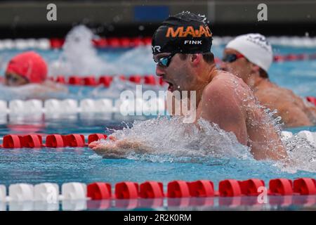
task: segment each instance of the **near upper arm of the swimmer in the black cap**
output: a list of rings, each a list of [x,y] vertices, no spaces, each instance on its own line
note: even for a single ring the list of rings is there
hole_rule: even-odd
[[[206,86],[200,104],[200,117],[218,124],[220,129],[232,131],[239,143],[247,144],[246,120],[232,87],[225,84]]]

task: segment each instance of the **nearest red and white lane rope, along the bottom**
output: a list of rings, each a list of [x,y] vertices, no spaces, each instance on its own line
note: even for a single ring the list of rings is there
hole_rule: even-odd
[[[208,198],[208,197],[242,197],[267,195],[316,195],[316,180],[312,178],[271,179],[268,187],[261,179],[248,179],[238,181],[225,179],[215,188],[212,181],[171,181],[164,192],[160,181],[145,181],[138,184],[132,181],[122,181],[114,185],[110,183],[95,182],[84,184],[70,182],[62,184],[61,195],[58,184],[41,183],[11,184],[6,195],[6,186],[0,186],[0,201],[47,201],[53,195],[55,200],[120,200],[120,199],[148,199],[148,198]],[[316,200],[316,199],[315,199]]]

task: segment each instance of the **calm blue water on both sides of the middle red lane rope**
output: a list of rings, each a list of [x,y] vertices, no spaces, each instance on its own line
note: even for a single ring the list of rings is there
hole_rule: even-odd
[[[99,117],[100,118],[100,117]],[[125,121],[132,121],[126,118]],[[114,116],[108,120],[85,120],[77,115],[76,119],[46,120],[32,126],[18,124],[3,124],[0,136],[5,134],[27,134],[36,131],[39,134],[91,134],[104,133],[105,127],[121,129],[125,125],[116,121]],[[310,127],[316,131],[316,127]],[[106,134],[110,134],[108,131]],[[256,160],[237,160],[225,158],[208,160],[206,162],[147,162],[147,160],[103,159],[89,148],[42,148],[42,149],[1,149],[0,181],[1,184],[56,182],[67,181],[91,183],[93,181],[108,181],[112,184],[119,181],[147,180],[168,181],[183,179],[194,181],[210,179],[216,184],[222,179],[261,178],[268,181],[272,178],[287,177],[295,179],[307,176],[316,178],[315,172],[298,171],[282,172],[270,162]]]

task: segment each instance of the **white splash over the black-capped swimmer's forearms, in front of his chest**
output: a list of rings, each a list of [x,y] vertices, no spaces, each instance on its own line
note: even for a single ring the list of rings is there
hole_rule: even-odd
[[[252,158],[248,148],[237,141],[235,134],[225,132],[216,124],[209,124],[202,119],[198,124],[200,129],[195,125],[183,123],[180,117],[136,121],[132,127],[114,131],[112,135],[118,140],[137,143],[137,148],[127,144],[123,148],[105,152],[105,157],[147,158],[159,162],[205,162],[210,157]],[[110,140],[100,142],[111,143]]]

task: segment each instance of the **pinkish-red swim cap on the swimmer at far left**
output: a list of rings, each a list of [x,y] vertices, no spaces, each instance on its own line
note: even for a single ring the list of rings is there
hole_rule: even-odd
[[[8,63],[6,73],[23,76],[31,83],[41,83],[47,77],[47,65],[41,56],[34,51],[27,51],[14,56]]]

